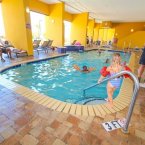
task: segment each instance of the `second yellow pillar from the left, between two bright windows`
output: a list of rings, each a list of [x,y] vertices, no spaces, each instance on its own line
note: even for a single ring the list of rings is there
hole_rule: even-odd
[[[46,38],[53,40],[53,45],[64,45],[64,3],[50,5],[50,15],[46,18]]]

